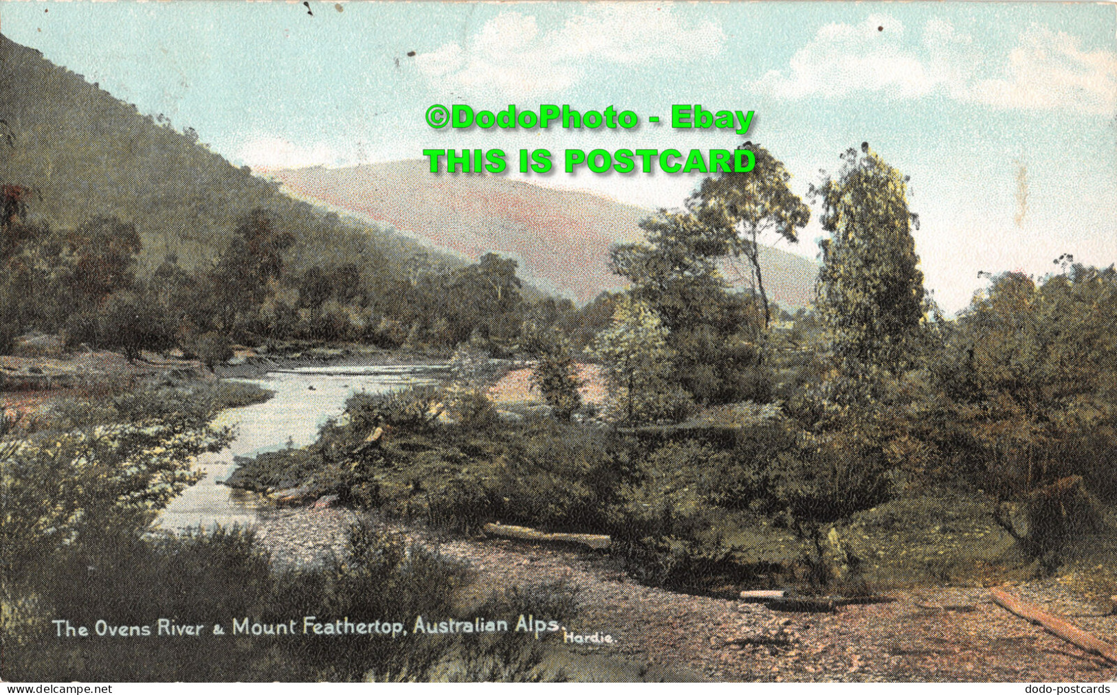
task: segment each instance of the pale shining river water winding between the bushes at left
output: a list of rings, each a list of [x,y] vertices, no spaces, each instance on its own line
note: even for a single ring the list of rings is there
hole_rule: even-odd
[[[237,467],[233,456],[255,456],[283,448],[312,444],[318,428],[338,417],[345,400],[355,393],[383,393],[420,384],[433,384],[433,369],[417,365],[378,367],[303,367],[271,371],[259,379],[238,379],[275,392],[266,403],[230,408],[214,424],[233,425],[237,438],[228,448],[198,457],[204,474],[160,514],[164,529],[187,529],[214,524],[241,525],[256,520],[257,508],[267,504],[262,495],[219,485]]]

